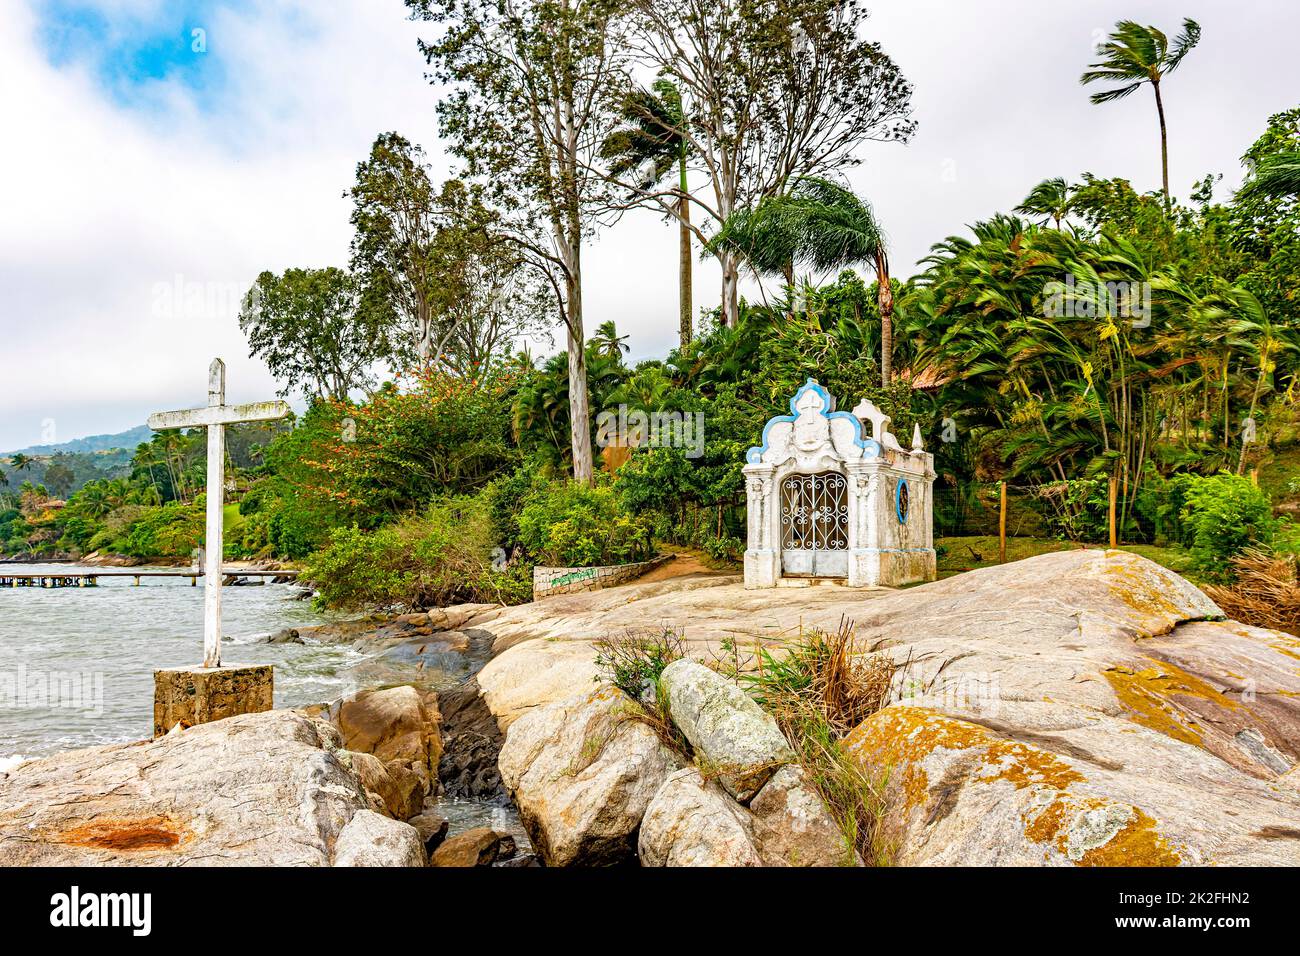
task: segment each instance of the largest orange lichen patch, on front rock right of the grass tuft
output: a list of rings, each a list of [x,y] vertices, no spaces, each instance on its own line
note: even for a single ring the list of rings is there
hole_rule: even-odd
[[[1008,780],[1017,790],[1050,787],[1063,791],[1084,779],[1054,753],[924,708],[888,708],[858,726],[845,745],[849,753],[876,766],[902,765],[900,779],[909,808],[927,800],[930,782],[920,763],[939,749],[976,750],[982,766],[972,770],[972,778],[985,783]]]

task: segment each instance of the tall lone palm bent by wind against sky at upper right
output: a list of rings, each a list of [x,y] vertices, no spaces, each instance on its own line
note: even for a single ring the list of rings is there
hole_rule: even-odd
[[[1165,129],[1165,101],[1160,94],[1160,82],[1178,69],[1183,57],[1201,39],[1201,27],[1195,20],[1183,20],[1183,33],[1174,40],[1153,26],[1143,26],[1132,20],[1115,23],[1114,33],[1101,44],[1101,60],[1088,64],[1079,82],[1121,83],[1121,86],[1092,94],[1093,103],[1110,103],[1135,92],[1143,83],[1150,83],[1156,92],[1156,112],[1160,114],[1160,166],[1165,190],[1165,209],[1169,199],[1169,137]]]

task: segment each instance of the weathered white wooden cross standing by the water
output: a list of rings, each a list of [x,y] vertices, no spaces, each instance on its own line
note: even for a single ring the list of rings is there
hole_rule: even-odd
[[[208,429],[208,522],[203,568],[203,666],[221,666],[221,533],[226,490],[225,427],[238,421],[272,421],[289,415],[285,402],[226,405],[226,363],[213,359],[208,368],[208,405],[204,408],[160,411],[150,415],[155,432],[173,428]]]

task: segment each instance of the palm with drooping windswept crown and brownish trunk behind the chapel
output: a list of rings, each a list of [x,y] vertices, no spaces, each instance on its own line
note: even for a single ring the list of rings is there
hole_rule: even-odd
[[[880,310],[880,381],[889,384],[893,365],[893,287],[889,256],[871,204],[829,179],[803,177],[783,195],[738,209],[712,243],[745,256],[755,272],[784,274],[793,285],[794,265],[838,272],[868,263],[876,273]]]

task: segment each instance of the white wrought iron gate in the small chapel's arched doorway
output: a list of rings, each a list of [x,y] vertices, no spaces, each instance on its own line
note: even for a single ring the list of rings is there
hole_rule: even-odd
[[[826,471],[781,481],[781,571],[848,576],[849,485],[844,475]]]

